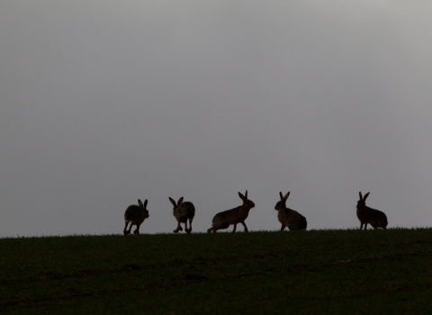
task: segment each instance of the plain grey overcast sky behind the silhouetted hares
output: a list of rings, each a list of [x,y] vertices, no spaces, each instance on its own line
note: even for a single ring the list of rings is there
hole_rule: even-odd
[[[432,225],[428,1],[0,4],[0,237],[193,231],[248,191],[249,230]],[[230,227],[229,229],[232,229]],[[243,230],[243,227],[239,227]]]

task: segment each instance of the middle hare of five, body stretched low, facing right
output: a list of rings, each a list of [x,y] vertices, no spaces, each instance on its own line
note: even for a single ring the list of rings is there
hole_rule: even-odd
[[[245,195],[238,193],[238,196],[243,201],[243,204],[239,205],[237,208],[221,211],[216,214],[212,220],[213,226],[207,229],[207,233],[211,231],[216,233],[218,229],[227,229],[231,224],[234,224],[234,229],[232,230],[234,233],[237,228],[237,223],[243,224],[245,232],[248,232],[245,220],[249,214],[249,210],[255,207],[255,203],[247,199],[247,191]]]

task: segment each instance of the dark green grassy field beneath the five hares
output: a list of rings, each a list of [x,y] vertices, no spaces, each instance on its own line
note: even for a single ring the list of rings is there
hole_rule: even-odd
[[[432,229],[0,239],[1,313],[431,311]]]

